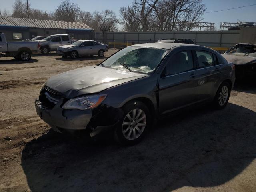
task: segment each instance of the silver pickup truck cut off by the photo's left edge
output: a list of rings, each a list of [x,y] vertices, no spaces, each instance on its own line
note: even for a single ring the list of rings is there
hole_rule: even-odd
[[[21,60],[30,60],[32,54],[40,53],[40,44],[36,41],[7,42],[4,33],[0,33],[0,57],[14,57]]]

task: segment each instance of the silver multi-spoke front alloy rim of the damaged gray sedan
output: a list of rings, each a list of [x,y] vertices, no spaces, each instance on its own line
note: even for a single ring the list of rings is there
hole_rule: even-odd
[[[141,109],[133,109],[125,116],[122,133],[128,140],[138,138],[146,127],[146,114]]]

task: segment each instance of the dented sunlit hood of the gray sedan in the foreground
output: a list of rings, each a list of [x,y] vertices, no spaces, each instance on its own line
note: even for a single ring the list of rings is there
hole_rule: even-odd
[[[66,98],[74,98],[83,94],[98,93],[145,76],[147,74],[88,66],[53,76],[46,81],[46,86],[64,94]]]

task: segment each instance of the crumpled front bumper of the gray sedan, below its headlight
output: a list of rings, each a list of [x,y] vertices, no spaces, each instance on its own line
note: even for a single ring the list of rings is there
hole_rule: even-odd
[[[84,130],[92,118],[92,110],[64,110],[60,107],[63,103],[61,99],[52,109],[42,106],[39,100],[35,100],[36,112],[38,116],[55,131],[61,129]]]

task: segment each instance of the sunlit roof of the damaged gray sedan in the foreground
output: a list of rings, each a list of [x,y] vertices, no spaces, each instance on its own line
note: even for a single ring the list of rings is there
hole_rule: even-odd
[[[152,48],[162,48],[162,49],[172,49],[174,47],[185,47],[185,46],[196,46],[198,48],[206,48],[200,45],[186,44],[186,43],[143,43],[131,45],[129,47],[152,47]]]

